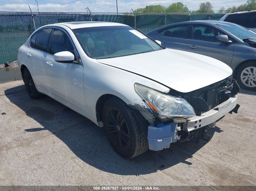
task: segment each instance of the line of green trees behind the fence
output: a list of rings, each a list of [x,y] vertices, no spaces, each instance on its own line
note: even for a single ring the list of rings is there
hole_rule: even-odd
[[[213,5],[211,2],[205,2],[199,4],[198,10],[189,10],[187,5],[184,5],[182,2],[172,3],[169,6],[163,5],[147,5],[144,8],[138,8],[135,10],[136,13],[230,13],[232,11],[241,11],[246,9],[254,9],[256,8],[256,0],[247,0],[246,3],[239,6],[232,7],[220,7],[219,10],[214,11]]]

